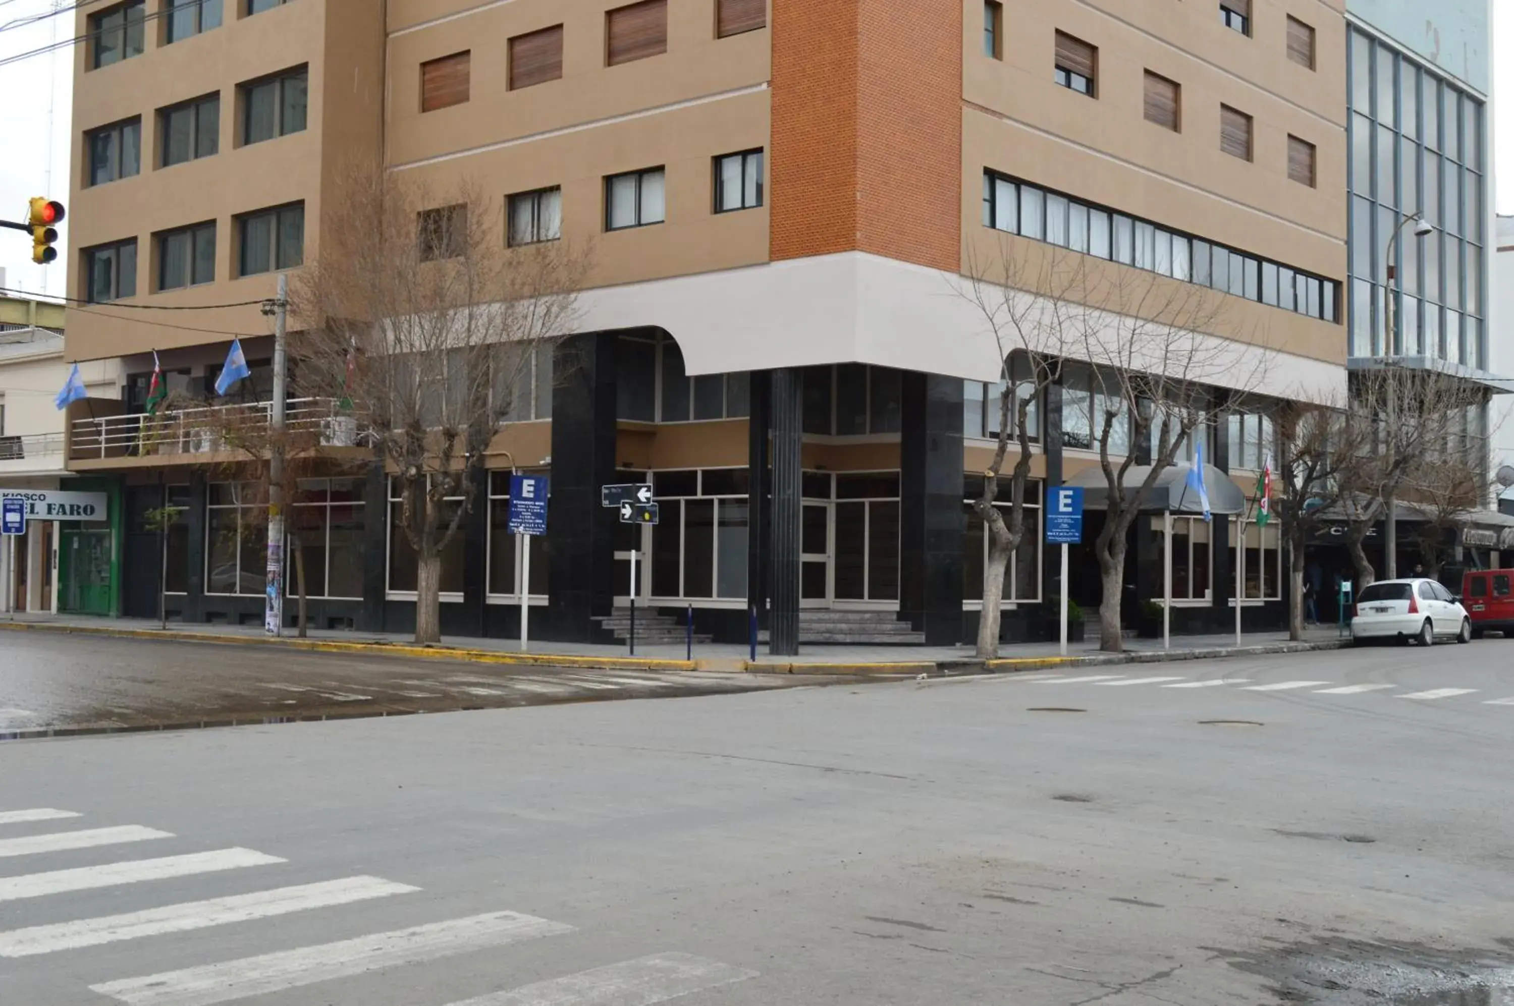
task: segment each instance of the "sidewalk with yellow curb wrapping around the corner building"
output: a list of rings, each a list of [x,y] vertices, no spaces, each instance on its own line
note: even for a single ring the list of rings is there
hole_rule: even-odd
[[[637,646],[630,655],[625,646],[589,643],[533,641],[528,654],[519,652],[519,640],[444,637],[439,646],[416,646],[409,635],[395,632],[350,632],[312,629],[309,638],[292,635],[269,638],[256,625],[186,625],[171,622],[160,629],[148,619],[107,619],[91,616],[24,614],[0,616],[0,631],[82,632],[133,638],[182,640],[195,643],[289,646],[307,650],[342,654],[372,654],[391,657],[424,657],[468,663],[640,669],[640,670],[706,670],[754,673],[854,673],[854,675],[943,675],[972,672],[1011,672],[1064,664],[1125,664],[1163,663],[1173,660],[1204,660],[1214,657],[1254,657],[1335,649],[1344,641],[1335,626],[1311,628],[1304,641],[1290,643],[1285,632],[1257,632],[1243,637],[1235,647],[1234,635],[1175,635],[1172,649],[1161,640],[1125,640],[1125,654],[1101,654],[1098,643],[1069,646],[1069,655],[1058,654],[1057,643],[1017,643],[999,647],[999,660],[980,661],[970,646],[801,646],[798,657],[769,657],[763,646],[757,660],[749,660],[745,646],[696,644],[693,660],[684,646]]]

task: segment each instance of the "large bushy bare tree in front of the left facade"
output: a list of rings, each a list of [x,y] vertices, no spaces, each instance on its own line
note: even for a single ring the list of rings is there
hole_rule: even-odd
[[[442,549],[475,504],[500,424],[528,404],[574,330],[589,251],[544,241],[556,227],[540,221],[507,242],[503,203],[469,183],[435,194],[356,169],[335,198],[319,257],[291,298],[297,383],[350,401],[360,439],[395,480],[416,554],[415,640],[436,643]]]

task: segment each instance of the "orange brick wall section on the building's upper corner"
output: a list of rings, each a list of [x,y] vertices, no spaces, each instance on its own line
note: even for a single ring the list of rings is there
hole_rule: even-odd
[[[961,260],[961,0],[772,0],[774,260]]]

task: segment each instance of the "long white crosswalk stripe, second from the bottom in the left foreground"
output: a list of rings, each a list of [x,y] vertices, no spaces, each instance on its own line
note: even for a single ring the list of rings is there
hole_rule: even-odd
[[[91,985],[89,991],[129,1006],[212,1006],[377,968],[422,964],[522,939],[556,936],[572,929],[565,923],[534,915],[491,912],[182,971],[104,982]]]

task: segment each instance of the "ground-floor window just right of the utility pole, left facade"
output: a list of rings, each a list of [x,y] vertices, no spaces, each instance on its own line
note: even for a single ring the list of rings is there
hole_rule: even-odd
[[[306,598],[363,596],[363,483],[301,478],[289,508],[285,596],[300,596],[295,549],[304,551]]]

